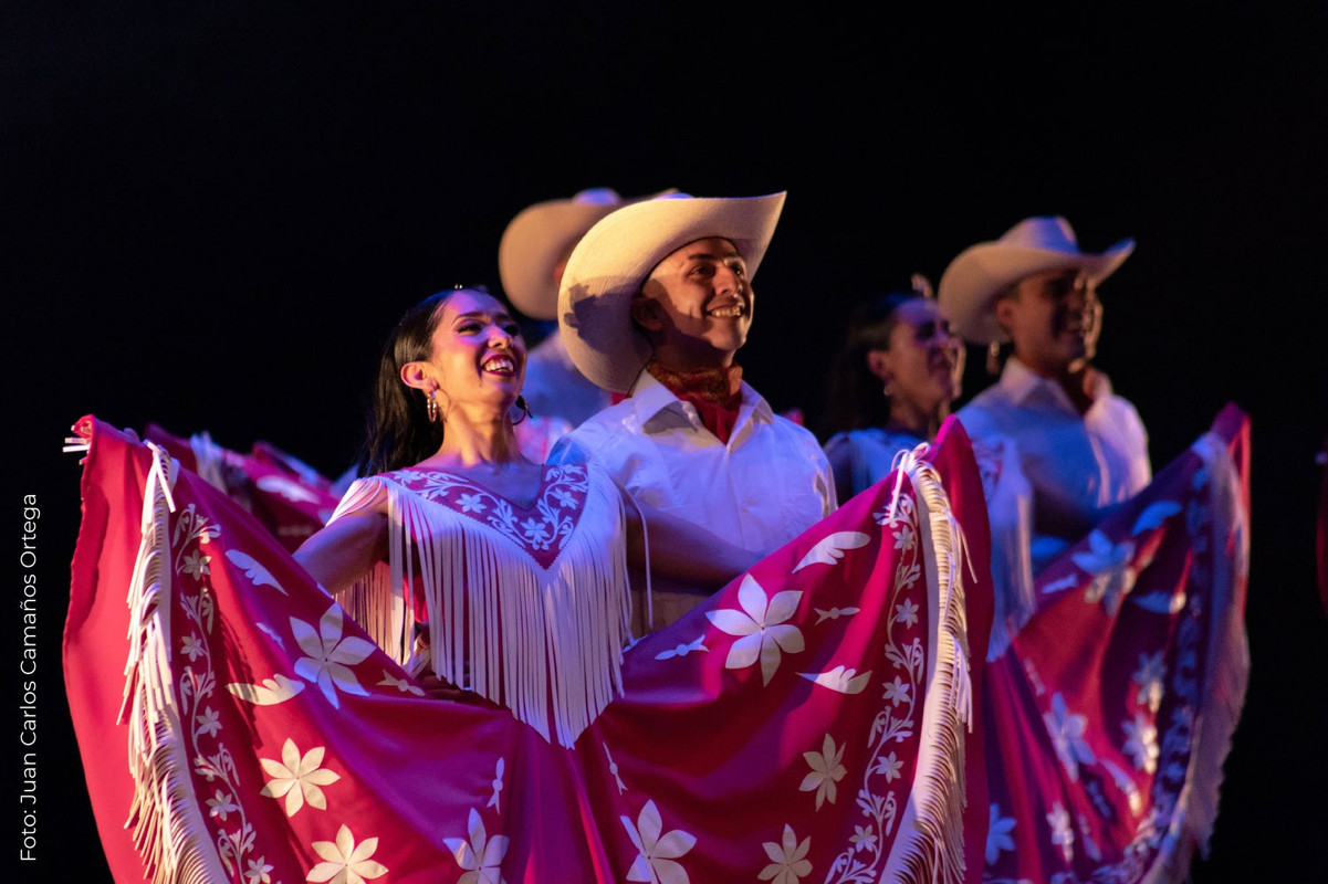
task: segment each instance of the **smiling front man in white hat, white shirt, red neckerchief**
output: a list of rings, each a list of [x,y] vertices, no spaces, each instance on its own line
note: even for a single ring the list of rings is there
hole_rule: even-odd
[[[835,508],[815,437],[774,414],[736,361],[782,208],[784,194],[673,194],[619,208],[572,251],[558,309],[576,366],[628,398],[551,459],[596,463],[635,499],[762,553]],[[704,595],[660,584],[644,613],[659,628]]]

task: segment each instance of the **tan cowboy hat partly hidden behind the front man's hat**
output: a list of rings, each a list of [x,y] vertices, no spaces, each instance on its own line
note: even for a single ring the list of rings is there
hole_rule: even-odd
[[[554,319],[558,261],[595,222],[639,199],[649,196],[624,199],[612,188],[592,187],[571,199],[548,199],[521,210],[498,242],[498,276],[511,305],[531,319]]]

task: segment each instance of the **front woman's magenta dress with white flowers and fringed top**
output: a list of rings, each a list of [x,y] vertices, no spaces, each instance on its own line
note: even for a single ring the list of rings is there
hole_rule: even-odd
[[[118,881],[963,879],[989,583],[961,433],[635,644],[594,467],[548,466],[529,510],[360,482],[341,512],[385,496],[392,553],[347,608],[159,447],[78,433],[65,670]],[[398,662],[416,617],[474,702]]]

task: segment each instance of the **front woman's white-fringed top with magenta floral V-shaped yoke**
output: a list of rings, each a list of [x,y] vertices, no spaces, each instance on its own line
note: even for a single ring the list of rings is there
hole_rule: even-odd
[[[384,508],[388,561],[337,601],[406,669],[432,669],[570,747],[622,693],[631,596],[619,487],[594,466],[550,465],[523,508],[408,467],[356,480],[331,520]],[[420,603],[428,644],[416,641]]]

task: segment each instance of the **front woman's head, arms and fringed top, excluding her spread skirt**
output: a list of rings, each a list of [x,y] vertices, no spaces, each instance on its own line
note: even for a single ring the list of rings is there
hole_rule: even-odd
[[[616,661],[628,641],[624,555],[627,563],[645,565],[644,508],[596,469],[542,466],[522,455],[511,414],[523,406],[525,368],[519,327],[487,292],[445,291],[412,308],[380,360],[363,458],[376,475],[351,487],[329,524],[295,557],[344,599],[398,662],[428,669],[429,684],[437,674],[523,719],[548,711],[535,697],[511,696],[522,685],[546,689],[546,654],[548,689],[559,702],[571,702],[563,678],[598,686],[596,698],[576,713],[579,723],[559,718],[566,742],[603,707],[618,680]],[[390,518],[397,514],[409,518]],[[713,591],[756,560],[676,516],[649,510],[647,518],[656,573]],[[587,520],[606,536],[574,534]],[[494,538],[493,528],[503,536]],[[594,539],[582,550],[583,536]],[[482,559],[471,550],[477,544]],[[555,553],[563,559],[560,597],[546,609],[539,559]],[[465,561],[463,577],[438,567],[444,560]],[[418,572],[421,580],[405,572]],[[417,587],[413,604],[392,592],[402,576]],[[418,636],[416,613],[422,615]],[[428,624],[445,616],[452,628],[430,642]],[[482,626],[473,623],[479,617]],[[467,619],[469,636],[462,632]],[[592,623],[595,653],[566,645],[586,636],[560,630],[559,619]],[[412,644],[417,640],[418,648]],[[518,681],[503,665],[540,676]],[[571,672],[562,670],[568,666]],[[527,723],[547,735],[543,721]]]

